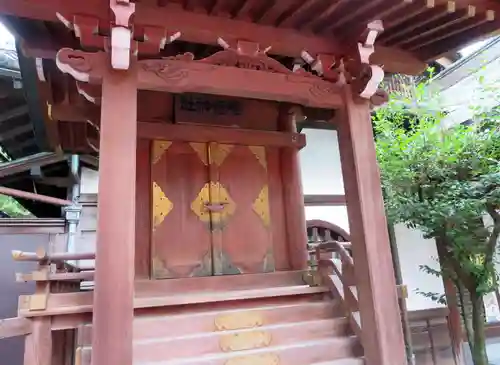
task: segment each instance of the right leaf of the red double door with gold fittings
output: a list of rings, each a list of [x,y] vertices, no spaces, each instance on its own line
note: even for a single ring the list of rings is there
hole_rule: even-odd
[[[223,274],[274,271],[265,148],[217,147],[210,146],[212,165],[234,207],[213,227],[214,267]]]

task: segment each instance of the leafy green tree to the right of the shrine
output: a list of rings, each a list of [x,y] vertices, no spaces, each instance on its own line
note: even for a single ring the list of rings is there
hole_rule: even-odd
[[[413,100],[396,97],[375,112],[382,189],[391,224],[436,239],[442,270],[426,269],[451,279],[461,298],[470,296],[469,346],[474,364],[487,365],[483,297],[498,286],[500,113],[476,105],[476,123],[445,129],[439,100],[423,84]]]

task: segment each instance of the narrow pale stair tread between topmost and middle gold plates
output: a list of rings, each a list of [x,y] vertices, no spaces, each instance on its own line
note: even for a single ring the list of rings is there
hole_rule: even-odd
[[[194,339],[194,338],[223,336],[223,335],[245,333],[245,332],[252,332],[252,331],[270,331],[273,329],[293,330],[293,329],[295,329],[295,327],[301,327],[304,325],[318,325],[319,326],[319,325],[331,324],[332,331],[333,331],[334,325],[342,325],[342,324],[347,324],[347,323],[348,323],[348,320],[345,317],[337,317],[337,318],[329,318],[329,319],[313,319],[313,320],[301,321],[301,322],[278,323],[278,324],[271,324],[271,325],[260,326],[260,327],[242,328],[242,329],[235,329],[235,330],[193,333],[193,334],[189,334],[189,335],[176,336],[176,337],[167,336],[167,337],[160,337],[160,338],[155,337],[155,338],[148,338],[148,339],[140,339],[140,340],[134,340],[134,344],[139,345],[139,344],[143,344],[143,343],[166,342],[166,341],[170,341],[170,340],[184,340],[184,339],[187,340],[187,339]],[[339,338],[339,337],[347,337],[347,336],[345,336],[345,335],[332,336],[331,338]],[[328,338],[328,339],[330,339],[330,338]]]

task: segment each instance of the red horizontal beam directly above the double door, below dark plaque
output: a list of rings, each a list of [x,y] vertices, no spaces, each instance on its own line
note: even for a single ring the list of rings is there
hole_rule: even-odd
[[[167,124],[139,123],[137,134],[144,139],[165,139],[184,142],[219,142],[227,144],[242,144],[248,146],[274,146],[302,148],[306,145],[306,137],[299,133],[268,132],[248,129],[232,129]]]

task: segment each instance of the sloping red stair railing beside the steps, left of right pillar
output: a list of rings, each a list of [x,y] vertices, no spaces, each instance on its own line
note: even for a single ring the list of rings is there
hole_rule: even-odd
[[[334,258],[333,253],[336,253],[340,260]],[[354,333],[361,340],[362,329],[358,293],[354,280],[354,262],[351,255],[340,242],[326,241],[316,246],[315,259],[317,274],[322,285],[330,288],[333,295],[340,299]]]

